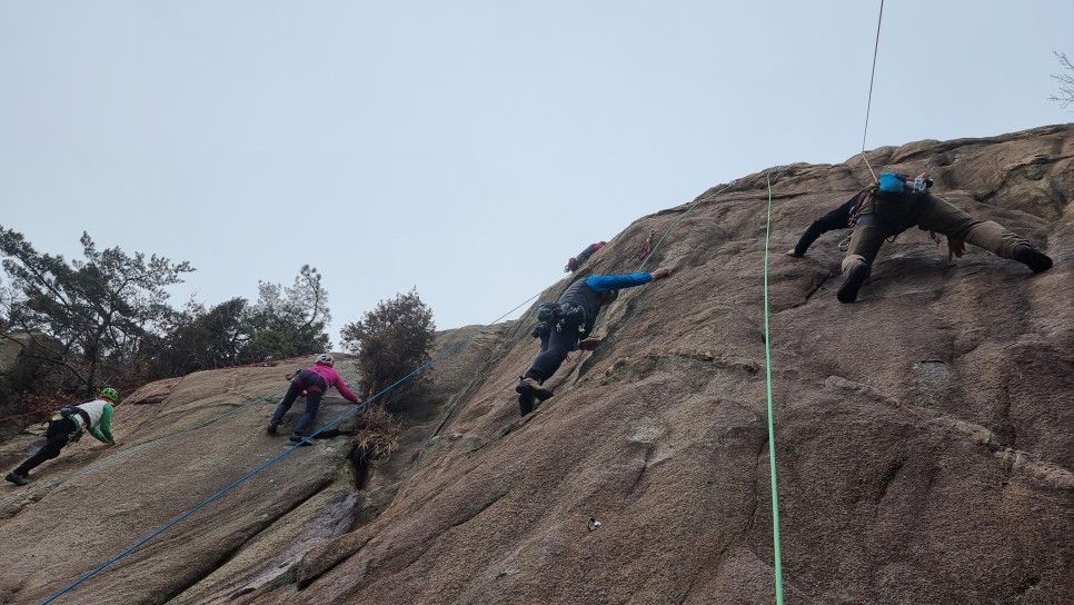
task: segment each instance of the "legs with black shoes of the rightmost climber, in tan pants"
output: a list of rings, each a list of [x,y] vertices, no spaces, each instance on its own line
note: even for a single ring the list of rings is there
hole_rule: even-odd
[[[965,242],[968,242],[996,256],[1023,262],[1033,272],[1052,267],[1047,255],[998,222],[976,220],[928,192],[876,194],[863,205],[851,236],[851,247],[843,259],[839,302],[857,299],[857,291],[869,276],[884,239],[914,226],[947,236],[947,246],[955,256],[962,256]]]

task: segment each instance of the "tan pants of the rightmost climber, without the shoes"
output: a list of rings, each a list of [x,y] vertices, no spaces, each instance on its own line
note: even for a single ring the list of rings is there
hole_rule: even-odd
[[[851,247],[843,258],[843,275],[858,261],[872,267],[885,238],[914,226],[963,239],[1003,258],[1014,258],[1014,247],[1028,244],[998,222],[974,220],[966,212],[929,194],[882,197],[862,209],[862,217],[851,235]]]

